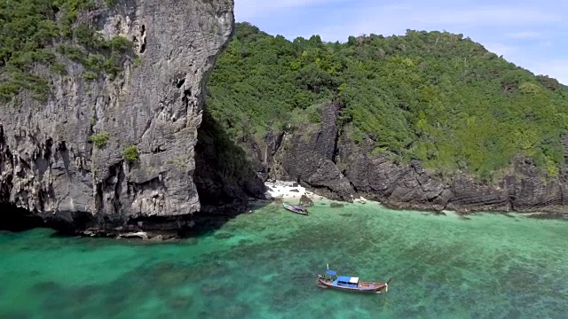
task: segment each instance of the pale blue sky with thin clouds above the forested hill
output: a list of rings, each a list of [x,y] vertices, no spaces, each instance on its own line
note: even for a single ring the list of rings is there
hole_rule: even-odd
[[[234,0],[235,19],[288,40],[320,35],[463,34],[508,61],[568,85],[566,0]]]

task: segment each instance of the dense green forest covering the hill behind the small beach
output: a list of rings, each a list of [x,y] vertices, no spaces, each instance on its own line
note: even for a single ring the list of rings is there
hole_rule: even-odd
[[[235,140],[320,121],[312,107],[344,105],[351,143],[419,159],[440,175],[491,181],[517,155],[548,176],[564,165],[568,88],[519,68],[462,35],[408,30],[323,43],[237,25],[209,80],[206,111]]]

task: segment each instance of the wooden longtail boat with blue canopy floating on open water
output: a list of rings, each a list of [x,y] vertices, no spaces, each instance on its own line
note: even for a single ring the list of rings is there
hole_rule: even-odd
[[[389,284],[392,278],[390,278],[386,283],[377,282],[362,282],[359,281],[359,277],[356,276],[337,276],[334,270],[329,269],[327,265],[326,275],[318,275],[318,280],[316,284],[321,288],[332,288],[343,290],[347,292],[388,292]],[[335,279],[332,277],[335,276]]]

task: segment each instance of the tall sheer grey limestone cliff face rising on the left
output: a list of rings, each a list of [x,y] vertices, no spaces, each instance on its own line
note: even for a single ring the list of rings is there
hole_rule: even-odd
[[[233,0],[119,0],[86,17],[124,35],[140,64],[114,80],[83,81],[83,66],[50,76],[46,104],[25,93],[0,107],[0,200],[52,222],[145,229],[144,218],[201,209],[193,183],[204,84],[233,34]],[[103,148],[90,137],[107,132]],[[134,145],[138,163],[122,158]],[[2,214],[2,213],[0,213]],[[173,227],[179,227],[179,222]],[[147,226],[151,227],[151,226]]]

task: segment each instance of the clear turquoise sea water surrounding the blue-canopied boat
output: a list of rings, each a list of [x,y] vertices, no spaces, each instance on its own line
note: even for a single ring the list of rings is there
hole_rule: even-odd
[[[0,233],[0,318],[568,316],[568,222],[328,204],[172,244]],[[327,262],[389,292],[321,289]]]

